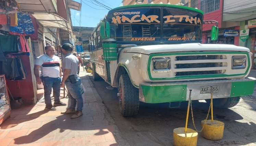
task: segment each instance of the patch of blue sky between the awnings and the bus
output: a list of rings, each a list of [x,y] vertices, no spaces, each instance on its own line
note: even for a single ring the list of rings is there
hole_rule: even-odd
[[[122,0],[74,0],[82,3],[81,11],[71,9],[71,20],[73,26],[96,27],[100,19],[108,14],[106,8],[99,6],[99,3],[113,9],[122,5]],[[82,2],[81,2],[82,1]],[[81,15],[81,21],[80,21]],[[81,23],[80,23],[81,22]]]

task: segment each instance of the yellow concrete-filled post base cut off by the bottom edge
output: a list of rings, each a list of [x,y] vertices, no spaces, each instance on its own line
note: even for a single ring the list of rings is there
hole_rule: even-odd
[[[173,129],[173,144],[174,146],[196,146],[198,133],[190,128],[184,132],[185,127]]]

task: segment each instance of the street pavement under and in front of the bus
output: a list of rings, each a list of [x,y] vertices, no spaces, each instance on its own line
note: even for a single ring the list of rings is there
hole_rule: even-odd
[[[117,89],[108,90],[103,80],[93,81],[94,87],[106,105],[108,112],[117,125],[121,137],[132,146],[170,146],[173,145],[173,129],[185,126],[187,102],[180,108],[168,108],[168,104],[140,104],[135,117],[121,116],[119,112]],[[256,77],[252,70],[251,77]],[[253,146],[256,145],[256,94],[244,96],[232,108],[215,109],[214,119],[225,123],[222,140],[210,141],[198,134],[198,146]],[[207,115],[209,104],[193,102],[193,112],[197,129]],[[210,119],[210,116],[209,118]],[[191,113],[188,128],[194,129]]]

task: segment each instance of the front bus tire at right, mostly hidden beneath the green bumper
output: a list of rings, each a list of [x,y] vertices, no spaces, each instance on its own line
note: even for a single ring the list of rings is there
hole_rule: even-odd
[[[216,98],[212,100],[213,102],[212,106],[216,108],[230,108],[237,105],[239,103],[239,100],[240,100],[240,96],[228,97],[228,98]],[[210,102],[211,100],[208,99],[207,103],[210,103]]]

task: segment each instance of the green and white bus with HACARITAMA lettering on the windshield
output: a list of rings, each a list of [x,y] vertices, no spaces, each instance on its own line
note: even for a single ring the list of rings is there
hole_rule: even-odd
[[[139,4],[112,9],[89,40],[93,79],[118,88],[120,111],[134,116],[139,103],[210,99],[235,106],[253,94],[250,50],[228,44],[201,44],[203,12],[170,4]],[[214,21],[210,21],[214,22]],[[217,40],[213,26],[211,39]]]

